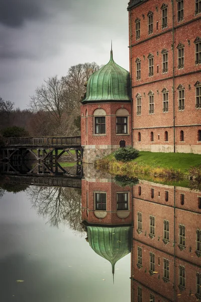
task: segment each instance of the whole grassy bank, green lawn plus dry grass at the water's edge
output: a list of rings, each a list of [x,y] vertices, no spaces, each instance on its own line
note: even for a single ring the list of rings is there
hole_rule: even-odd
[[[129,175],[143,178],[188,179],[201,175],[201,155],[184,153],[140,152],[130,162],[118,162],[110,155],[96,162],[98,169],[108,170],[112,175]],[[193,167],[193,170],[191,169]],[[196,173],[195,173],[196,171]],[[142,178],[142,177],[140,177]]]

